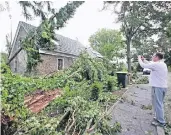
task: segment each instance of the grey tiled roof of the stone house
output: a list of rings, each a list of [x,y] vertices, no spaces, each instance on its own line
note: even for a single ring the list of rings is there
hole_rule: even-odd
[[[26,30],[27,33],[36,29],[35,26],[30,25],[28,23],[21,22],[21,21],[19,23],[24,27],[24,29]],[[86,49],[90,56],[102,57],[102,55],[100,53],[93,50],[91,47],[86,48],[77,40],[73,40],[73,39],[70,39],[68,37],[64,37],[64,36],[59,35],[59,34],[56,34],[56,38],[58,39],[58,41],[55,41],[56,48],[54,51],[56,51],[56,52],[70,54],[70,55],[74,55],[74,56],[79,56],[79,54],[83,50]]]

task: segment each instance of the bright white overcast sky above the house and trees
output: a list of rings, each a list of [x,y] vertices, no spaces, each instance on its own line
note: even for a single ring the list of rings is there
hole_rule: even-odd
[[[4,3],[4,2],[0,2]],[[67,1],[58,0],[54,2],[56,8],[64,6]],[[120,24],[115,23],[116,15],[109,10],[103,10],[103,1],[86,1],[77,8],[75,15],[71,18],[65,27],[57,31],[57,34],[78,40],[85,46],[89,46],[89,37],[101,28],[119,29]],[[14,38],[19,21],[24,21],[34,26],[40,24],[40,19],[35,18],[32,21],[26,21],[22,15],[22,9],[17,1],[10,1],[10,13],[0,12],[0,51],[6,52],[6,35],[12,28],[12,37]],[[11,23],[12,22],[12,23]],[[11,26],[12,24],[12,26]]]

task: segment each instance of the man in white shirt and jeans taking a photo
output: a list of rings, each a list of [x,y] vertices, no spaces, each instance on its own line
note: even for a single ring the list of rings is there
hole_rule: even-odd
[[[152,86],[152,106],[154,109],[154,121],[152,125],[165,126],[164,119],[164,97],[167,91],[168,69],[163,62],[163,54],[157,52],[152,57],[152,62],[148,62],[142,56],[138,56],[138,62],[142,68],[151,69],[149,83]]]

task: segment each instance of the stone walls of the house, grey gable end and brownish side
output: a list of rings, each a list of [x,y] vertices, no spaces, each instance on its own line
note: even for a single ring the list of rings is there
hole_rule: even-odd
[[[27,36],[26,31],[21,26],[19,29],[19,33],[16,37],[15,45],[13,46],[11,57],[16,53],[16,51],[20,48],[20,41],[24,39]],[[67,56],[67,55],[66,55]],[[42,63],[39,63],[36,72],[33,72],[33,74],[38,75],[45,75],[50,74],[54,71],[58,71],[58,59],[63,59],[64,61],[64,68],[68,68],[73,63],[73,58],[68,56],[58,56],[56,55],[46,55],[41,54],[41,58],[43,60]],[[10,63],[10,67],[13,73],[19,73],[24,74],[26,72],[27,68],[27,54],[24,50],[22,50]]]

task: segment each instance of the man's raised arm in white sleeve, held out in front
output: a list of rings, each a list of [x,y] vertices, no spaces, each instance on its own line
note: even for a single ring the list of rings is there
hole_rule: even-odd
[[[141,56],[138,56],[138,62],[142,68],[149,68],[151,70],[155,70],[155,63],[148,61],[147,63],[145,63],[142,61]]]

